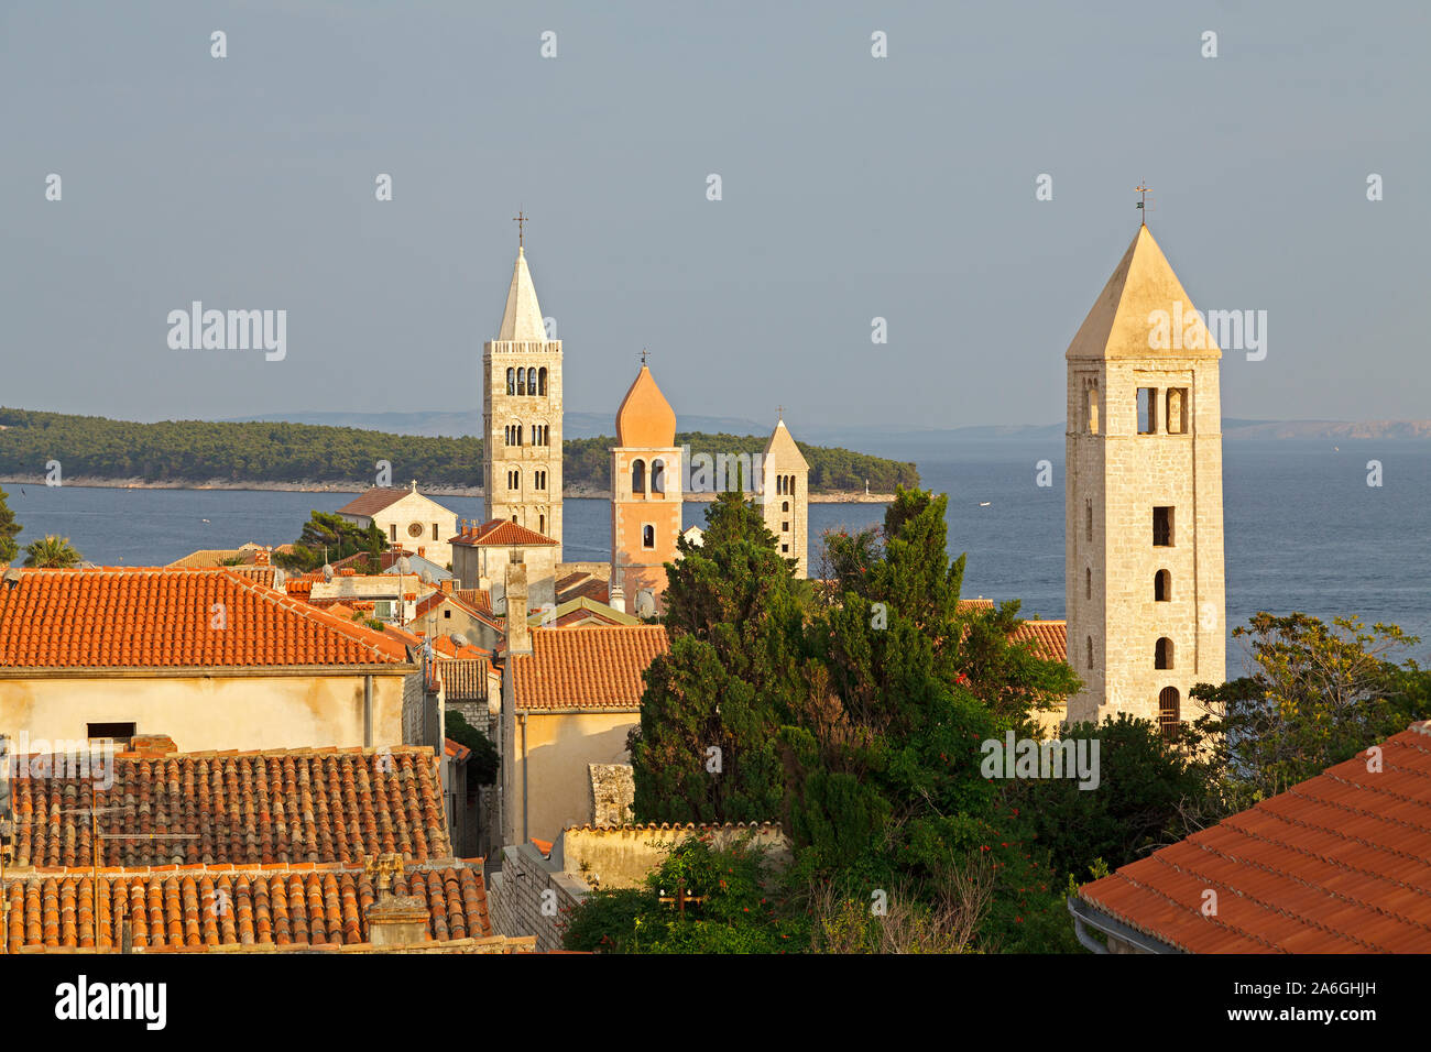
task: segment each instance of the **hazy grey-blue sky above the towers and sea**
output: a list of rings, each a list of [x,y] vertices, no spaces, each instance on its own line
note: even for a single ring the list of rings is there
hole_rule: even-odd
[[[570,411],[648,346],[678,414],[1058,421],[1148,180],[1193,302],[1268,312],[1225,415],[1427,418],[1428,11],[4,0],[0,404],[477,406],[524,208]],[[195,299],[286,358],[170,349]]]

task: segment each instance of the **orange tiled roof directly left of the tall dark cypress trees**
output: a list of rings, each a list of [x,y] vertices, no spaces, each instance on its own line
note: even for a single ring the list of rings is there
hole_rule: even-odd
[[[518,708],[638,710],[647,666],[670,650],[658,624],[532,628],[531,640],[511,658]]]

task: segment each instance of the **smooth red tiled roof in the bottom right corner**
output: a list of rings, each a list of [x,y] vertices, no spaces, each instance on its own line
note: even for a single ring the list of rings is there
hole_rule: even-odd
[[[1085,885],[1192,953],[1431,952],[1431,723]],[[1203,916],[1203,892],[1218,893]]]

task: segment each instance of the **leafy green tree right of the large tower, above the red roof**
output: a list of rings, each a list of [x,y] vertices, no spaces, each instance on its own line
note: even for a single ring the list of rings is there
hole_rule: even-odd
[[[1251,641],[1256,671],[1219,687],[1198,684],[1211,710],[1196,723],[1226,777],[1232,810],[1298,781],[1431,716],[1431,683],[1414,661],[1388,656],[1417,644],[1391,624],[1324,624],[1294,613],[1254,615],[1234,637]]]

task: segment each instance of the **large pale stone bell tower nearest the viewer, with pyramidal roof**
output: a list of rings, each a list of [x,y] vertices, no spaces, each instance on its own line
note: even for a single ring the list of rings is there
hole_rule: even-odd
[[[1141,226],[1066,355],[1069,721],[1169,729],[1226,678],[1221,356]]]

